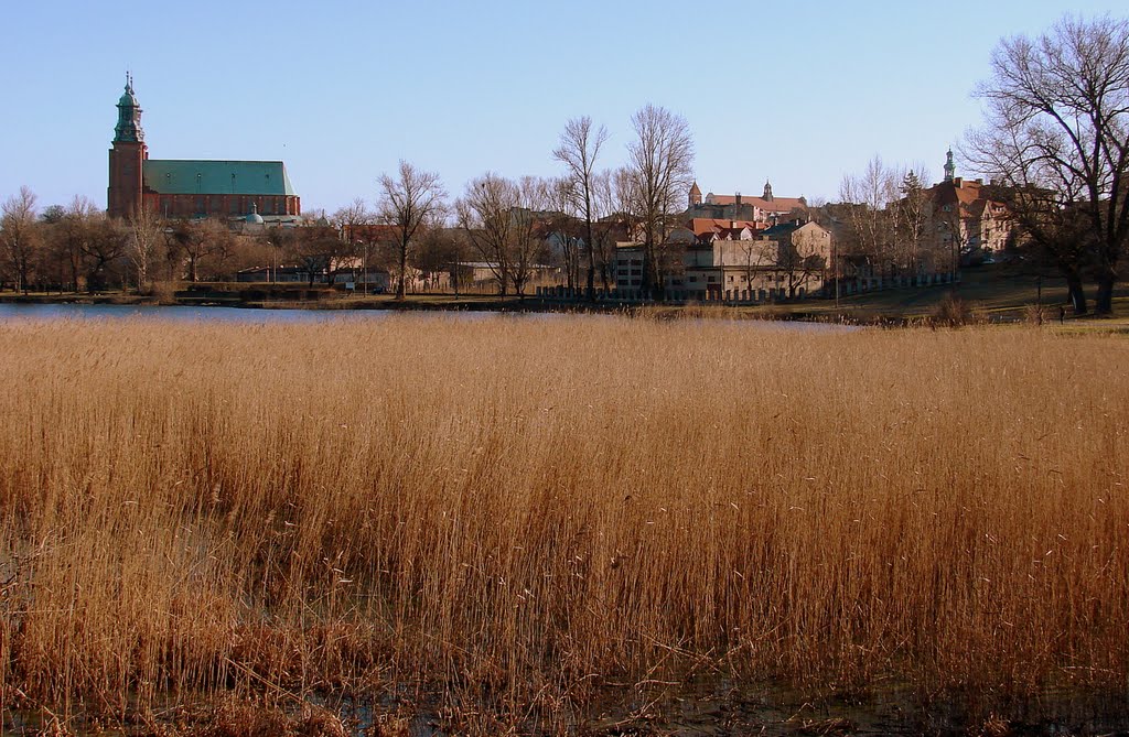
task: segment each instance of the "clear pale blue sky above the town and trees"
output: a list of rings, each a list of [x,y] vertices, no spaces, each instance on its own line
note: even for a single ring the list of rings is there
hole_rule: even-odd
[[[1001,36],[1122,2],[12,2],[0,26],[0,199],[106,203],[126,68],[152,158],[282,159],[306,211],[374,200],[401,158],[452,195],[551,175],[590,115],[623,161],[647,103],[682,114],[703,192],[834,200],[875,153],[940,174]]]

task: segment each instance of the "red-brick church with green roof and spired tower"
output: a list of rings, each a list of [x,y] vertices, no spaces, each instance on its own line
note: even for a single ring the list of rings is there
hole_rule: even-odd
[[[106,210],[114,218],[141,207],[164,218],[281,220],[301,214],[282,161],[150,159],[130,77],[117,100],[106,195]]]

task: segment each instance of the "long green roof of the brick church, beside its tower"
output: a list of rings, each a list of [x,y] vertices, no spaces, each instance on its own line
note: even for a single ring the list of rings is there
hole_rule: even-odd
[[[295,194],[282,161],[147,159],[142,174],[158,194]]]

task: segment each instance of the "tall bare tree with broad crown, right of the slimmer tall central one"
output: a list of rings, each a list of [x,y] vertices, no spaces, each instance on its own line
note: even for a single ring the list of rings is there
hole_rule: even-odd
[[[666,240],[668,218],[681,210],[691,183],[694,159],[690,126],[681,115],[646,105],[632,117],[638,137],[628,144],[624,183],[642,235],[642,289],[654,295],[663,287],[659,248]]]

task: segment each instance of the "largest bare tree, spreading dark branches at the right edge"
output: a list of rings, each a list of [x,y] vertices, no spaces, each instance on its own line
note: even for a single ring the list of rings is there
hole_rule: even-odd
[[[987,120],[965,158],[1006,186],[1025,234],[1059,249],[1075,312],[1086,312],[1089,271],[1095,312],[1108,314],[1129,240],[1129,20],[1066,17],[1038,38],[1005,38],[991,72],[977,89]],[[1077,237],[1061,237],[1070,231],[1080,252]]]

